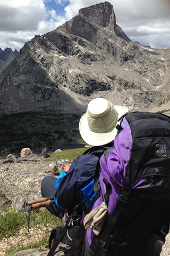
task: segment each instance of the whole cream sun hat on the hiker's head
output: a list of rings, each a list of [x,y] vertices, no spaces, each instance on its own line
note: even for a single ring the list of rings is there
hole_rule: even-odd
[[[79,122],[82,139],[92,146],[101,146],[113,141],[117,134],[117,120],[128,112],[128,108],[114,106],[104,98],[91,100],[87,112]]]

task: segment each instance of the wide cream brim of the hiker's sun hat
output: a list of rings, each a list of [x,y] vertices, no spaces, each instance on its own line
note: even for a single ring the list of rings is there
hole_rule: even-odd
[[[116,105],[114,105],[114,107],[117,110],[118,119],[121,118],[121,116],[123,116],[124,114],[129,112],[128,108],[126,108],[126,107],[116,106]],[[117,124],[118,123],[119,122],[117,122]],[[105,145],[105,144],[113,141],[117,134],[116,128],[111,129],[107,132],[92,132],[88,126],[87,113],[82,115],[82,117],[80,118],[79,131],[80,131],[82,139],[87,144],[89,144],[91,146]]]

